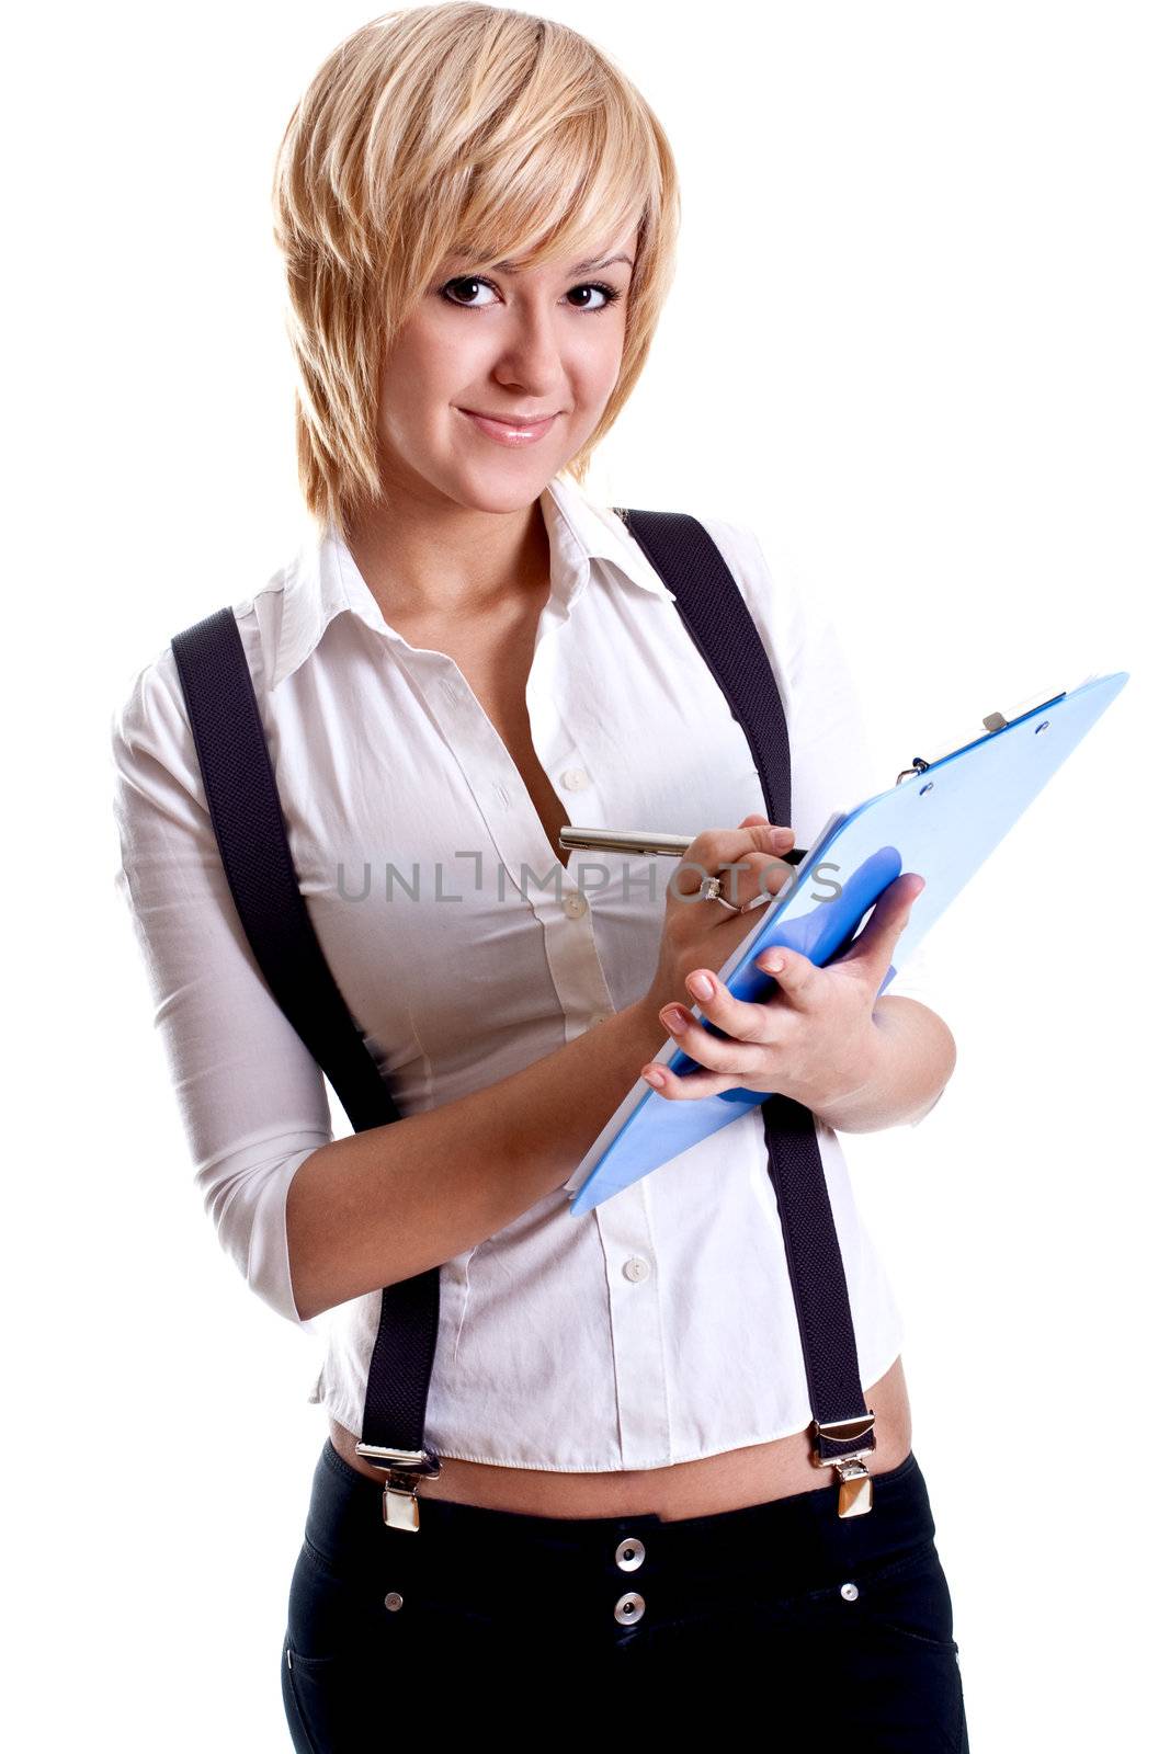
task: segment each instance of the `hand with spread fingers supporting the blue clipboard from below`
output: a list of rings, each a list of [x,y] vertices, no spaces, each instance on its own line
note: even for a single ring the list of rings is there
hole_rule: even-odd
[[[731,998],[714,968],[689,972],[688,993],[730,1040],[703,1030],[691,1012],[667,1005],[660,1012],[663,1028],[709,1070],[679,1077],[651,1065],[642,1077],[660,1096],[681,1102],[744,1087],[791,1096],[814,1114],[847,1103],[877,1073],[877,989],[924,888],[917,872],[902,872],[879,895],[865,930],[826,968],[786,945],[761,951],[756,966],[777,982],[761,1003]]]

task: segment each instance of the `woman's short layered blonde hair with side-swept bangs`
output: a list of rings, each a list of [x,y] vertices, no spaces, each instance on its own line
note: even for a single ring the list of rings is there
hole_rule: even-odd
[[[663,128],[600,49],[507,7],[386,12],[317,68],[284,130],[272,202],[300,489],[319,524],[342,528],[382,496],[382,358],[442,258],[537,267],[637,225],[621,374],[565,465],[584,481],[642,374],[679,233]]]

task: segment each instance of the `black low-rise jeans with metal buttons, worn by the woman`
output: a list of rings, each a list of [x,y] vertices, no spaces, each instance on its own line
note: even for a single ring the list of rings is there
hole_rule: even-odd
[[[325,1442],[281,1651],[298,1754],[396,1731],[709,1735],[768,1710],[768,1745],[968,1754],[951,1591],[914,1452],[837,1515],[837,1482],[663,1522],[533,1517],[382,1486]],[[695,1715],[691,1715],[695,1714]]]

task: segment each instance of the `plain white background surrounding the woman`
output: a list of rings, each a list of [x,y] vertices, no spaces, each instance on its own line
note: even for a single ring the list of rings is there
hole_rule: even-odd
[[[1131,674],[931,933],[960,1047],[938,1109],[845,1149],[907,1319],[972,1747],[1135,1740],[1168,1558],[1168,12],[551,11],[682,174],[675,289],[591,491],[756,528],[831,603],[889,782],[937,731]],[[300,538],[272,161],[370,16],[58,5],[11,40],[19,1747],[288,1747],[319,1342],[247,1293],[193,1193],[114,893],[107,726]]]

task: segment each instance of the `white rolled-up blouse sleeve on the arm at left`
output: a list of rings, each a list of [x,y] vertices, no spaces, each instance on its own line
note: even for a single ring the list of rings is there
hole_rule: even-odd
[[[286,1198],[333,1133],[325,1077],[260,973],[232,900],[174,652],[111,717],[125,898],[195,1184],[249,1287],[298,1326]]]

